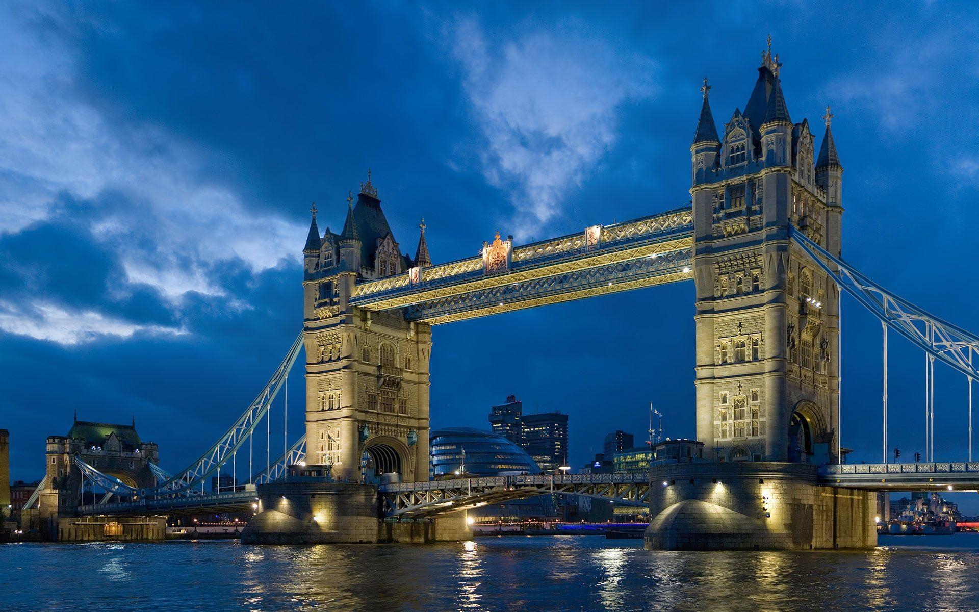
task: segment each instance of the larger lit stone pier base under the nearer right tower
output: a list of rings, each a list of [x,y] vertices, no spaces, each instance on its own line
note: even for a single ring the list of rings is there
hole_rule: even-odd
[[[877,543],[874,494],[819,486],[816,466],[669,463],[650,469],[650,483],[649,549],[811,550]]]

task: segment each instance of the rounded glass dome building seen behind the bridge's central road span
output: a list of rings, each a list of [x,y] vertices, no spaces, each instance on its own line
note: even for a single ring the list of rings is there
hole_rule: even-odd
[[[531,455],[502,436],[472,427],[445,427],[431,433],[432,477],[450,477],[459,470],[463,450],[466,451],[465,472],[473,476],[540,473]],[[553,518],[557,511],[550,495],[536,495],[486,505],[470,510],[469,515],[479,522],[495,522]]]

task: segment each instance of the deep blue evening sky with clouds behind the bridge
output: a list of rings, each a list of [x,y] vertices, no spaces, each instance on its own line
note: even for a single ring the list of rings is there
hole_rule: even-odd
[[[424,216],[436,261],[685,204],[701,79],[723,128],[769,33],[792,118],[820,139],[833,107],[845,259],[979,330],[974,5],[3,3],[12,476],[40,477],[74,410],[135,415],[169,470],[209,446],[300,328],[309,203],[337,229],[368,167],[401,250]],[[880,325],[843,308],[843,444],[879,461]],[[488,427],[516,394],[570,415],[574,465],[606,432],[641,439],[650,400],[692,437],[693,337],[691,283],[437,327],[433,426]],[[923,369],[892,342],[902,459]],[[936,458],[964,458],[965,380],[937,382]]]

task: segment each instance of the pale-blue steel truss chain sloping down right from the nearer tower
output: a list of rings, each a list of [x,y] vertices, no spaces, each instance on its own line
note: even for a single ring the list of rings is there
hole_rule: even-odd
[[[789,236],[839,287],[888,327],[970,380],[979,379],[979,359],[974,358],[979,354],[979,337],[890,293],[842,259],[833,257],[801,230],[789,227]]]

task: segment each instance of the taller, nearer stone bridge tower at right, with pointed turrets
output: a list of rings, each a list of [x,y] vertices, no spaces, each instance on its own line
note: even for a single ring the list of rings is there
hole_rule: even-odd
[[[778,57],[719,135],[704,101],[692,154],[697,438],[724,461],[837,461],[839,295],[789,242],[793,224],[841,248],[840,165],[794,123]]]

